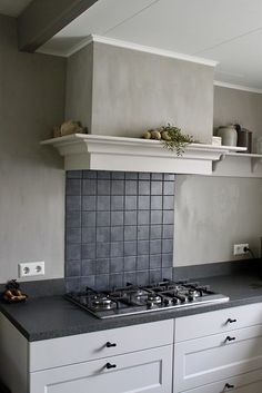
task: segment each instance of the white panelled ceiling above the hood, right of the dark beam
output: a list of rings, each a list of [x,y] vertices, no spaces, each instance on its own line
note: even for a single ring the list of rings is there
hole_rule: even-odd
[[[90,33],[216,60],[216,80],[262,89],[261,0],[99,0],[41,51]]]

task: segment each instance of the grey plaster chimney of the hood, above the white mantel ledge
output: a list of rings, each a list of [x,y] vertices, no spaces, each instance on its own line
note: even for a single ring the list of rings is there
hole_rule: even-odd
[[[91,94],[92,134],[139,137],[172,122],[211,141],[212,67],[94,42],[69,59],[67,85],[67,117],[87,125]]]

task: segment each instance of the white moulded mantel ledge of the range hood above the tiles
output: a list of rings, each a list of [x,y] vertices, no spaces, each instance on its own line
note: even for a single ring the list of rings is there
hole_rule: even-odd
[[[246,148],[190,144],[182,156],[163,148],[158,140],[73,134],[41,141],[64,157],[64,169],[150,171],[211,175],[216,164],[232,151]]]

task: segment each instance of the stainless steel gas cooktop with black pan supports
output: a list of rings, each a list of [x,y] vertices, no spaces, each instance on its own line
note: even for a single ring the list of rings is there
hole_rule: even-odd
[[[98,318],[198,307],[229,301],[228,296],[210,291],[208,285],[170,279],[145,286],[128,283],[124,287],[103,292],[87,287],[84,292],[68,293],[66,298]]]

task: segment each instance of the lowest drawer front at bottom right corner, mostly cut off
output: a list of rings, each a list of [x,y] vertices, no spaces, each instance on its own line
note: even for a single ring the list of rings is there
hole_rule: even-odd
[[[230,387],[233,386],[233,387]],[[220,382],[211,383],[204,386],[191,389],[183,393],[261,393],[262,392],[262,370],[253,373],[246,373],[234,377],[229,377]],[[179,392],[174,392],[179,393]]]

